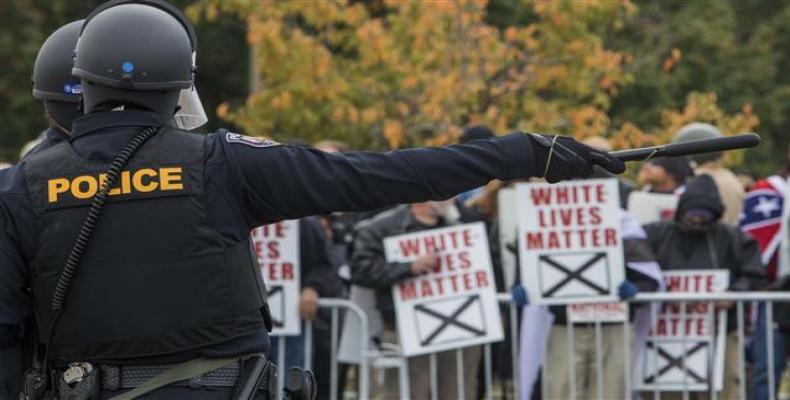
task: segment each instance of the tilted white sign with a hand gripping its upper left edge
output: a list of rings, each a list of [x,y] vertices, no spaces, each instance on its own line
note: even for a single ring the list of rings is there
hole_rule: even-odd
[[[434,269],[392,288],[404,356],[503,339],[485,226],[478,222],[384,239],[388,262],[439,256]]]

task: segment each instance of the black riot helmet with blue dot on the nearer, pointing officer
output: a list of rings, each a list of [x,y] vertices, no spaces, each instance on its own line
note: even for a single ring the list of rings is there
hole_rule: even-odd
[[[85,112],[123,106],[169,121],[193,86],[196,46],[192,25],[168,3],[105,3],[86,18],[75,50]]]

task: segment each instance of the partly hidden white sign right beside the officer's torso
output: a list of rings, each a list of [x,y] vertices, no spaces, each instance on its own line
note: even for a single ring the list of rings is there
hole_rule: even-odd
[[[271,335],[299,335],[299,221],[264,225],[252,231],[252,241],[266,283]]]

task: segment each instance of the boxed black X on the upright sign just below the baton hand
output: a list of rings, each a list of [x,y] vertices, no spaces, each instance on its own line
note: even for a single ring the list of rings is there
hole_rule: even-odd
[[[607,295],[609,259],[605,252],[538,256],[544,298]]]

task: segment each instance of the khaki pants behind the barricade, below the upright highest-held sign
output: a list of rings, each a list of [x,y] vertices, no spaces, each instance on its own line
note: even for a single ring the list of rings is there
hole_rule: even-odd
[[[601,324],[600,354],[601,368],[595,365],[596,338],[595,326],[574,325],[573,354],[574,365],[570,365],[568,357],[568,329],[566,325],[556,324],[549,336],[549,349],[546,354],[547,387],[544,388],[546,399],[570,399],[570,373],[575,374],[577,399],[598,398],[598,376],[601,374],[602,398],[625,399],[625,368],[623,349],[623,324]],[[630,343],[628,344],[630,347]]]

